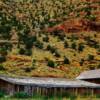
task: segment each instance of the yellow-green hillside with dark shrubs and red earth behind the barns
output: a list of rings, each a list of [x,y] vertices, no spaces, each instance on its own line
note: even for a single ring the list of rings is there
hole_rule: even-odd
[[[75,78],[97,68],[99,0],[0,0],[0,73]]]

